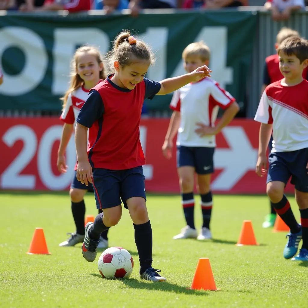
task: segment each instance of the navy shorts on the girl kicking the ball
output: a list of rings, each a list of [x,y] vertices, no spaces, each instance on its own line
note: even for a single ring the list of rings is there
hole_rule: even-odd
[[[127,209],[126,200],[145,197],[145,177],[142,166],[126,170],[93,169],[93,187],[97,209],[120,205]]]

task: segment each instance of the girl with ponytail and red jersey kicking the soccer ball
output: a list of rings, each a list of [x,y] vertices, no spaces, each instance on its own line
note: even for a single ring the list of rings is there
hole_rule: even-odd
[[[145,98],[173,92],[210,76],[211,70],[202,66],[179,77],[150,81],[144,77],[154,63],[150,48],[128,30],[113,43],[107,59],[114,73],[90,90],[76,119],[77,179],[92,183],[97,208],[104,211],[86,225],[82,253],[88,262],[95,260],[100,234],[120,221],[122,200],[135,229],[140,278],[165,281],[160,270],[152,267],[152,228],[142,171],[145,159],[139,140],[141,109]]]

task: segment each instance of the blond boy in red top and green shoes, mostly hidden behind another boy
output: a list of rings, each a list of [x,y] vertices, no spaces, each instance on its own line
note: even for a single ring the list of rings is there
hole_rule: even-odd
[[[290,37],[300,37],[298,31],[291,28],[282,27],[276,36],[275,49],[277,50],[278,46],[285,40]],[[303,70],[303,78],[308,79],[308,68],[306,67]],[[263,71],[263,85],[261,88],[261,95],[264,92],[265,88],[278,80],[283,78],[282,73],[279,69],[279,56],[277,53],[270,55],[265,58],[265,65]],[[270,139],[269,143],[269,152],[272,150],[273,138]],[[274,226],[276,220],[276,211],[270,202],[270,213],[265,216],[265,221],[262,224],[263,228],[270,228]]]

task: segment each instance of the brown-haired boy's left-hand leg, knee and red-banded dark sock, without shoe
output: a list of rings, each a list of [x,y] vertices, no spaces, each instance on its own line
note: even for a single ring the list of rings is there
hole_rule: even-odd
[[[300,226],[294,217],[288,199],[284,195],[284,189],[285,183],[280,181],[272,181],[266,185],[266,193],[273,202],[277,214],[290,228],[291,233],[298,233],[300,231]]]

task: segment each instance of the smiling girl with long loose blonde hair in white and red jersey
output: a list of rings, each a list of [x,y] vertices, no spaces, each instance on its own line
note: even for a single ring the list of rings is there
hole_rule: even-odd
[[[63,112],[60,119],[64,122],[61,141],[58,150],[57,167],[59,172],[67,172],[65,151],[75,126],[76,116],[87,99],[89,90],[101,79],[105,79],[102,56],[99,50],[93,46],[82,46],[75,51],[72,63],[71,85],[63,99]],[[59,246],[74,246],[82,243],[84,239],[84,215],[86,212],[83,197],[87,191],[93,192],[92,186],[81,184],[76,179],[76,168],[71,183],[70,197],[71,209],[76,225],[76,232],[69,233],[71,236]],[[99,210],[99,213],[102,210]],[[99,248],[106,248],[107,230],[102,233]]]

